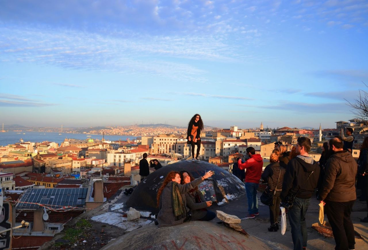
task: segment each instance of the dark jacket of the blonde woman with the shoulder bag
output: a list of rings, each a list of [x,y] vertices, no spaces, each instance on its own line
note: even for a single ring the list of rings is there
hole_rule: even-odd
[[[281,171],[281,174],[280,174]],[[282,189],[282,182],[284,180],[286,169],[284,167],[280,166],[280,163],[273,162],[271,164],[268,164],[265,168],[265,171],[263,171],[261,177],[263,182],[267,183],[268,190],[275,190],[276,184],[277,184],[277,190]],[[280,175],[280,178],[279,178]],[[279,178],[279,182],[277,182],[277,179]]]

